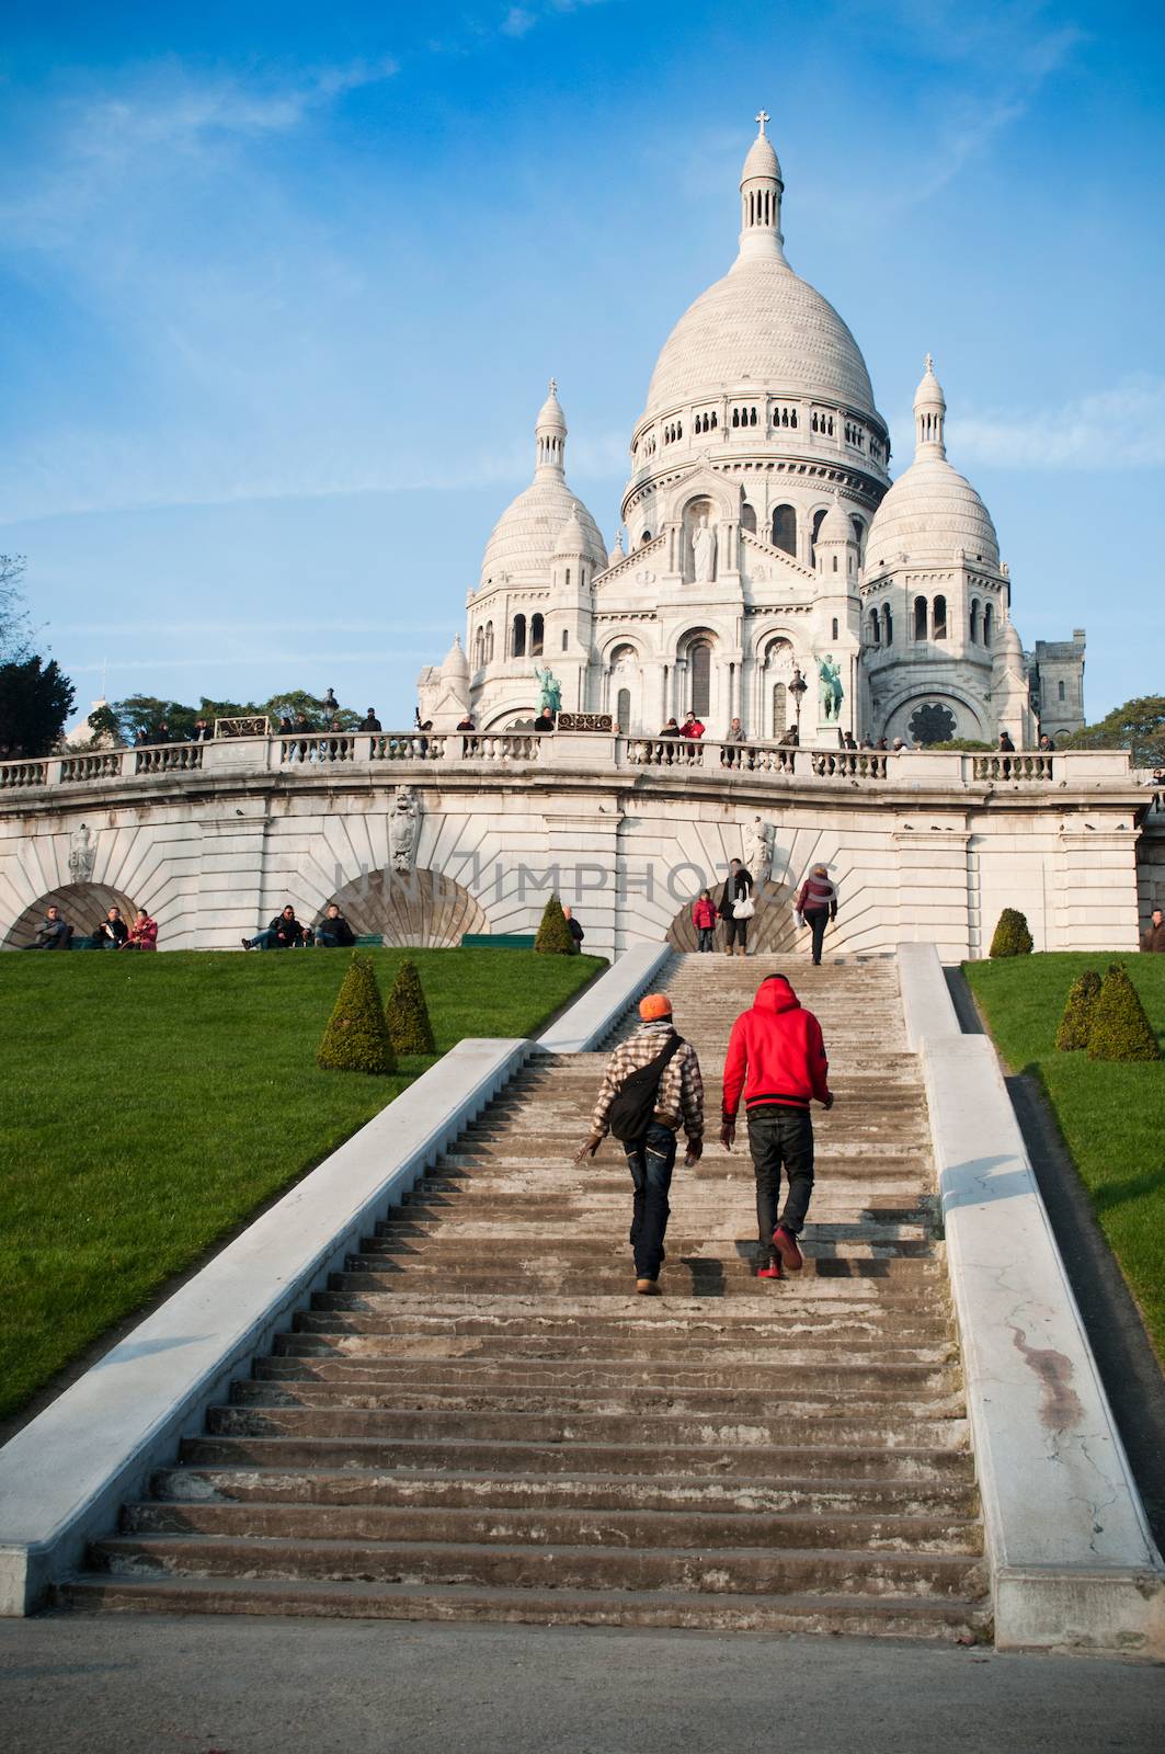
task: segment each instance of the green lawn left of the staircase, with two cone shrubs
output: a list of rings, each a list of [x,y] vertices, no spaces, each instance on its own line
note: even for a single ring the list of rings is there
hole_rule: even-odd
[[[421,972],[440,1052],[532,1035],[604,966],[372,951]],[[0,958],[0,1415],[335,1151],[432,1059],[321,1072],[347,956]]]

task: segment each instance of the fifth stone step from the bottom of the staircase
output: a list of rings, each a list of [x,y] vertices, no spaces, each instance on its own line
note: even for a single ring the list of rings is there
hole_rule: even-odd
[[[835,1444],[835,1433],[823,1433],[830,1442],[790,1449],[767,1444],[744,1449],[714,1442],[672,1444],[644,1442],[637,1431],[633,1444],[570,1444],[560,1442],[490,1442],[461,1435],[404,1438],[367,1437],[256,1437],[219,1435],[184,1438],[181,1461],[193,1468],[263,1468],[281,1473],[298,1473],[302,1468],[344,1470],[356,1484],[368,1473],[398,1473],[416,1470],[442,1470],[461,1477],[467,1472],[490,1477],[537,1473],[546,1477],[577,1475],[637,1479],[714,1480],[770,1480],[779,1486],[795,1482],[798,1487],[819,1480],[879,1484],[893,1480],[928,1491],[932,1484],[974,1486],[974,1468],[967,1447],[853,1447]]]

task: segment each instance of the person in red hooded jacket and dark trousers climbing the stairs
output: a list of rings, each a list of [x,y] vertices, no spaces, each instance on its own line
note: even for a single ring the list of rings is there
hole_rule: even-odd
[[[781,1279],[783,1265],[793,1273],[805,1265],[797,1238],[812,1194],[809,1103],[816,1096],[826,1109],[833,1107],[828,1070],[821,1024],[804,1009],[784,975],[768,975],[753,1009],[740,1012],[732,1026],[719,1130],[721,1145],[732,1151],[744,1091],[756,1175],[758,1279]],[[777,1223],[783,1166],[790,1186]]]

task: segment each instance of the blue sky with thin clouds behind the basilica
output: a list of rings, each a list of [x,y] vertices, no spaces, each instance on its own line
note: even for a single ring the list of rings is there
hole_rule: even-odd
[[[1165,689],[1163,9],[11,5],[0,551],[98,693],[411,717],[554,374],[611,542],[772,114],[793,267],[911,458],[923,354],[1026,644]]]

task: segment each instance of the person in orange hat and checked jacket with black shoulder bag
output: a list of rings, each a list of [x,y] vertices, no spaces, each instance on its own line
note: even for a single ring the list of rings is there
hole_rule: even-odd
[[[704,1152],[704,1080],[695,1047],[675,1033],[667,993],[651,993],[640,1000],[639,1016],[642,1028],[630,1040],[619,1042],[607,1061],[591,1116],[591,1137],[579,1147],[574,1161],[593,1158],[609,1131],[623,1145],[635,1191],[635,1291],[640,1296],[658,1296],[675,1133],[683,1124],[688,1135],[684,1163],[691,1168]]]

